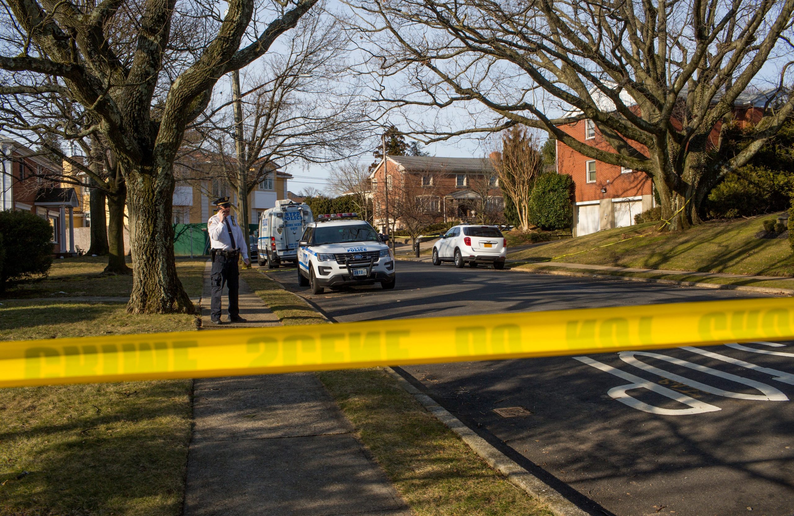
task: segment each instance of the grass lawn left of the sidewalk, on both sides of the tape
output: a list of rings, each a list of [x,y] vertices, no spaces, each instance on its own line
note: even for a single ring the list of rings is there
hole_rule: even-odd
[[[103,262],[58,260],[59,279],[35,285],[118,295],[113,285],[127,282],[129,293],[129,276],[97,276]],[[183,284],[200,291],[203,262],[178,267]],[[191,329],[191,315],[132,315],[118,302],[0,306],[0,341]],[[0,389],[0,516],[179,516],[191,390],[182,379]]]

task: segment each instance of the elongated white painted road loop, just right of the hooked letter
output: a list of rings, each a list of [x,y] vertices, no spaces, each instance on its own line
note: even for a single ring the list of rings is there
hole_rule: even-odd
[[[652,365],[646,364],[642,362],[642,360],[638,360],[635,355],[641,356],[649,356],[651,358],[656,358],[658,360],[665,360],[670,364],[676,364],[680,366],[684,366],[684,368],[694,369],[698,372],[705,372],[709,375],[715,375],[722,379],[727,379],[732,382],[742,383],[748,387],[753,387],[757,391],[761,391],[761,395],[748,395],[743,392],[733,392],[733,391],[725,391],[720,389],[719,387],[711,387],[711,385],[707,385],[705,383],[700,383],[693,379],[688,379],[685,376],[676,375],[672,372],[667,372],[664,369],[654,368]],[[646,351],[622,351],[618,353],[620,356],[620,360],[626,362],[626,364],[631,364],[635,368],[643,369],[647,372],[652,372],[654,375],[659,375],[664,378],[674,379],[680,383],[685,383],[689,387],[695,387],[696,389],[700,389],[700,391],[710,392],[713,395],[724,396],[726,398],[736,398],[736,399],[754,399],[758,401],[775,401],[775,402],[784,402],[788,401],[788,396],[784,395],[781,391],[778,391],[775,387],[771,385],[767,385],[766,383],[757,382],[754,379],[746,379],[742,378],[742,376],[731,375],[728,372],[722,372],[717,369],[707,368],[704,365],[700,364],[692,364],[692,362],[688,362],[687,360],[680,360],[679,358],[675,358],[673,356],[667,355],[660,355],[659,353],[652,353]]]

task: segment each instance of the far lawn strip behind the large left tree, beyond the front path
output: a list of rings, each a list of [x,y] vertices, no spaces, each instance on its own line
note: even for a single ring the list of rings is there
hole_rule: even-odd
[[[177,258],[176,271],[187,295],[198,298],[206,258]],[[130,258],[127,256],[127,263]],[[0,298],[56,298],[76,296],[129,296],[131,275],[104,274],[106,256],[76,256],[53,260],[49,275],[39,281],[22,283],[0,292]],[[64,292],[64,294],[60,294]]]

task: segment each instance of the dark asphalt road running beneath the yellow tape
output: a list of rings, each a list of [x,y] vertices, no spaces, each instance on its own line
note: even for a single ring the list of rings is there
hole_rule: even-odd
[[[297,286],[294,268],[272,275],[339,322],[754,297],[451,264],[399,262],[397,270],[394,291],[376,285],[317,296]],[[705,348],[719,355],[711,357],[676,348],[656,356],[610,353],[402,369],[491,444],[592,514],[792,516],[794,377],[784,383],[725,360],[773,368],[785,380],[785,373],[794,374],[794,346],[747,347],[766,353],[718,346]],[[711,371],[694,371],[673,359]],[[625,373],[706,408],[699,414],[659,414],[688,406],[642,388],[627,391],[630,404],[619,402],[607,391],[638,381]],[[531,414],[503,418],[494,412],[515,406]]]

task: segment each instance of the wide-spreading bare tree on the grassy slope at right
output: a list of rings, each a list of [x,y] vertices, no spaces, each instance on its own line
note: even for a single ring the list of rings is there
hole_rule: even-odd
[[[794,109],[785,87],[794,0],[357,5],[373,44],[366,71],[405,78],[397,92],[394,78],[384,80],[380,101],[406,112],[426,141],[518,124],[544,129],[584,156],[652,177],[671,229],[699,222],[715,182],[746,164]],[[727,152],[723,134],[762,67],[769,102],[750,143]],[[412,106],[458,106],[475,125],[424,129]],[[607,148],[562,126],[582,119]]]

